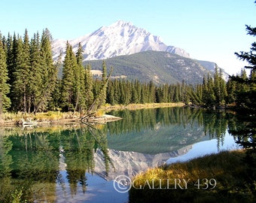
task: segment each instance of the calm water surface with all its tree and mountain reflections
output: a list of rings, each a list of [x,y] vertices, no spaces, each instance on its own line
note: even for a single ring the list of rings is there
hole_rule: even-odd
[[[150,167],[238,148],[227,111],[113,111],[106,125],[0,129],[0,201],[127,202],[114,179]]]

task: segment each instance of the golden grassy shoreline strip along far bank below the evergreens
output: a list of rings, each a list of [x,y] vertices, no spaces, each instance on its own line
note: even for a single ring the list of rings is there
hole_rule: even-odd
[[[105,112],[119,111],[119,110],[139,110],[147,108],[170,108],[170,107],[184,107],[184,103],[147,103],[147,104],[130,104],[130,105],[105,105],[99,108],[99,114],[97,117],[101,117]],[[80,118],[83,115],[79,112],[60,112],[60,111],[47,111],[38,114],[23,114],[21,112],[10,113],[7,112],[2,115],[2,122],[0,127],[5,126],[22,126],[21,120],[32,120],[38,123],[38,126],[42,125],[66,125],[72,123],[79,123]],[[0,120],[1,121],[1,120]]]

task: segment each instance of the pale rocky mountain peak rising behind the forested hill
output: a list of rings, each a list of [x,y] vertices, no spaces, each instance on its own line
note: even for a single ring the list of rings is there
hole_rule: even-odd
[[[185,50],[167,46],[160,37],[122,20],[118,20],[111,26],[102,26],[89,35],[70,40],[69,44],[72,45],[74,52],[76,52],[79,42],[84,50],[84,60],[109,59],[146,50],[166,51],[189,57]],[[53,59],[56,60],[60,52],[65,53],[66,40],[55,40],[52,47]]]

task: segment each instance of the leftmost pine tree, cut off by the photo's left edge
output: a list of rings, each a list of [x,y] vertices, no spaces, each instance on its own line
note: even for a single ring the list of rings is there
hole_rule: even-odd
[[[8,70],[6,63],[6,53],[2,43],[2,36],[0,33],[0,123],[2,122],[2,113],[10,107],[11,101],[8,98],[10,86],[8,81]]]

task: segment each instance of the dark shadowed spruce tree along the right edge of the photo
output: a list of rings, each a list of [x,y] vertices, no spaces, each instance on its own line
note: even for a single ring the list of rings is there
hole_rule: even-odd
[[[256,1],[254,2],[256,3]],[[256,37],[256,27],[246,26],[248,35]],[[238,115],[240,118],[239,126],[235,126],[234,129],[230,129],[233,135],[236,135],[236,143],[242,145],[246,149],[246,156],[243,159],[247,165],[245,177],[248,178],[248,182],[245,183],[245,188],[250,189],[251,193],[255,197],[255,186],[256,186],[256,42],[251,44],[250,51],[235,53],[239,59],[248,62],[245,66],[250,71],[250,75],[247,77],[245,74],[241,77],[231,77],[231,80],[235,80],[236,83],[243,87],[237,92],[236,99],[239,101],[239,108],[242,108],[242,115]]]

